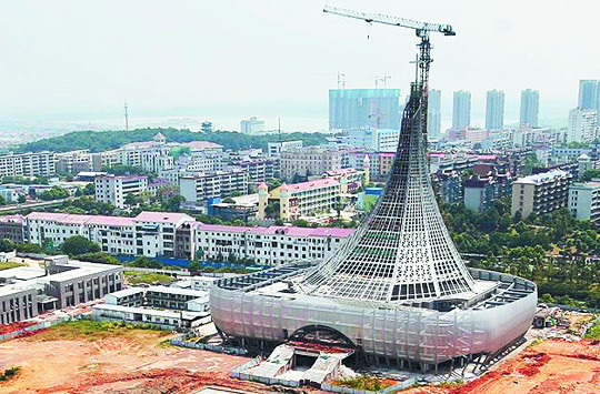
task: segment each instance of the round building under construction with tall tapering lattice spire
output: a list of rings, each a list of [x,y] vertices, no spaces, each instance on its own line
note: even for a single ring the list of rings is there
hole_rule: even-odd
[[[378,204],[317,266],[299,262],[219,282],[210,309],[223,336],[261,345],[328,337],[372,363],[428,370],[462,356],[493,358],[531,325],[534,283],[468,269],[443,223],[427,155],[429,34],[419,37],[419,74]]]

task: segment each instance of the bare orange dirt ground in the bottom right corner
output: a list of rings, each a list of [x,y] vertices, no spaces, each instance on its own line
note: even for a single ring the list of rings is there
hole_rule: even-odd
[[[462,386],[418,387],[402,393],[600,393],[600,344],[548,340]]]

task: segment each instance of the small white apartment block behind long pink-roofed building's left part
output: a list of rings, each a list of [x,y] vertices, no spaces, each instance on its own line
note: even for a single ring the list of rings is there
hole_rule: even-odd
[[[148,190],[148,178],[142,175],[101,175],[93,181],[96,200],[126,208],[128,194],[138,195]]]

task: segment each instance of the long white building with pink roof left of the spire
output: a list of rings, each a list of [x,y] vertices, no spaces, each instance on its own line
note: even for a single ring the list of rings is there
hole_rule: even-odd
[[[39,245],[60,245],[70,236],[81,235],[111,254],[209,261],[233,254],[263,265],[320,261],[334,253],[353,232],[333,228],[203,224],[172,212],[142,212],[136,218],[32,212],[23,218],[22,225],[26,241]]]

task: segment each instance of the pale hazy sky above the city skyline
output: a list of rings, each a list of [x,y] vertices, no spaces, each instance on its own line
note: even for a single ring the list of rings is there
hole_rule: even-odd
[[[501,89],[516,120],[531,88],[540,117],[566,123],[579,80],[600,79],[593,0],[0,0],[0,120],[118,119],[127,100],[131,119],[327,124],[338,72],[347,88],[390,75],[387,87],[406,94],[414,33],[323,13],[326,3],[452,24],[456,37],[432,34],[444,118],[462,89],[482,123],[486,91]]]

